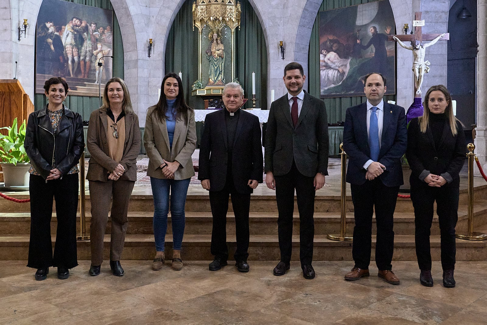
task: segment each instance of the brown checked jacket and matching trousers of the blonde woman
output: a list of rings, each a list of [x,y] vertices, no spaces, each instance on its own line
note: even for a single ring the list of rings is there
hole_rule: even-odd
[[[91,200],[91,253],[92,265],[103,262],[103,238],[108,222],[110,200],[112,199],[112,234],[110,259],[120,260],[127,232],[129,199],[137,178],[136,158],[140,150],[139,119],[135,113],[125,115],[125,144],[120,164],[124,174],[117,180],[108,179],[108,173],[118,165],[108,156],[107,113],[98,109],[90,115],[87,146],[91,153],[86,179],[90,181]]]

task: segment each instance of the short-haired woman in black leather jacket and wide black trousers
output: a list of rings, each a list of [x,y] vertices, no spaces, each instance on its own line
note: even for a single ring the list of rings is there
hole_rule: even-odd
[[[76,210],[78,208],[77,163],[84,150],[83,121],[63,105],[68,84],[52,77],[44,84],[49,103],[29,115],[24,147],[31,161],[29,191],[31,231],[27,266],[37,268],[36,280],[44,280],[49,267],[67,279],[78,265]],[[52,249],[51,216],[56,200],[56,246]]]

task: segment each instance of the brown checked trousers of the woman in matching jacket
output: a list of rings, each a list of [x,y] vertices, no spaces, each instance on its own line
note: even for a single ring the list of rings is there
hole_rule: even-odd
[[[129,225],[127,212],[134,184],[135,182],[124,179],[108,182],[90,181],[92,265],[101,265],[103,262],[103,238],[112,198],[110,260],[120,260],[125,243],[125,233]]]

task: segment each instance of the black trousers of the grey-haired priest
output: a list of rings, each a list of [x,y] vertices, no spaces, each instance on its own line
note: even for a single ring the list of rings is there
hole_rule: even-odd
[[[210,184],[211,186],[211,184]],[[228,212],[228,197],[232,201],[235,214],[235,233],[237,250],[233,255],[235,261],[246,261],[248,258],[250,194],[242,194],[235,190],[233,181],[226,180],[221,191],[210,191],[210,207],[213,215],[213,229],[211,231],[211,254],[224,261],[228,259],[226,246],[226,212]]]

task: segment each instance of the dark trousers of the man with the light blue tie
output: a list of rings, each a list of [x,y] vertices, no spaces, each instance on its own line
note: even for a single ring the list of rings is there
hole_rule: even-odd
[[[379,178],[362,185],[350,185],[354,203],[355,228],[352,256],[357,268],[367,269],[372,247],[372,216],[375,208],[377,239],[375,264],[379,270],[391,270],[394,250],[393,217],[399,186],[387,187]]]

